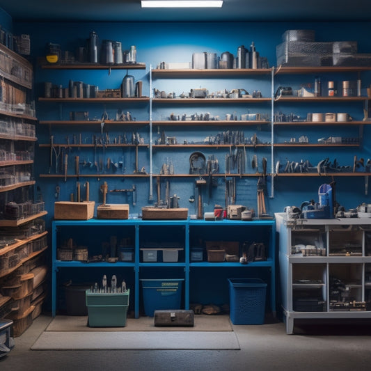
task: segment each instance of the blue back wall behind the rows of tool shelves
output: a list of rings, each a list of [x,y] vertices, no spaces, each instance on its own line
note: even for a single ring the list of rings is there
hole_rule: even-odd
[[[255,46],[260,52],[260,56],[266,56],[269,60],[270,65],[276,65],[276,45],[282,41],[282,34],[287,29],[314,29],[317,41],[340,41],[340,40],[356,40],[358,42],[358,52],[369,53],[371,52],[371,39],[368,37],[370,23],[16,23],[15,33],[29,33],[31,35],[31,59],[35,63],[36,58],[45,54],[45,45],[47,42],[56,42],[61,44],[63,50],[74,51],[79,46],[84,46],[86,38],[88,38],[90,31],[95,31],[99,35],[100,40],[111,39],[121,41],[123,49],[129,48],[130,45],[136,45],[137,47],[137,61],[146,63],[146,70],[136,70],[130,72],[133,74],[136,81],[143,80],[143,95],[149,95],[149,79],[148,71],[149,66],[153,68],[162,61],[166,62],[184,62],[191,61],[192,54],[194,52],[216,52],[220,55],[222,52],[237,53],[237,47],[239,45],[245,45],[249,47],[252,41],[255,42]],[[96,84],[100,89],[104,88],[118,88],[121,84],[125,71],[112,71],[109,76],[106,71],[57,71],[57,70],[41,70],[35,63],[35,95],[43,95],[43,83],[45,81],[51,81],[54,84],[62,84],[63,87],[68,86],[69,79],[84,81],[88,84]],[[291,77],[290,77],[291,78]],[[328,78],[328,77],[325,77]],[[350,77],[351,79],[354,77]],[[305,83],[313,82],[312,77],[299,77],[298,79],[305,79]],[[342,77],[338,77],[338,80]],[[370,74],[365,74],[363,79],[364,87],[370,85],[371,79]],[[278,85],[290,84],[290,79],[285,76],[280,76],[277,81]],[[269,88],[269,77],[263,79],[249,79],[244,81],[236,81],[230,79],[195,79],[195,80],[176,80],[171,81],[169,79],[157,80],[154,82],[154,87],[159,90],[166,90],[167,92],[175,91],[179,94],[188,92],[190,88],[198,88],[202,86],[208,88],[211,91],[222,89],[222,88],[246,88],[249,93],[251,90],[262,90],[263,95],[270,95]],[[42,104],[37,103],[37,116],[39,120],[52,120],[59,118],[68,118],[69,111],[89,111],[89,117],[100,117],[102,112],[106,108],[109,111],[110,117],[114,116],[116,109],[120,107],[103,105],[93,106],[68,106],[63,105],[61,108],[58,104]],[[129,110],[134,113],[137,120],[148,119],[148,104],[135,104],[133,106],[122,107],[125,110]],[[182,113],[205,113],[209,111],[212,115],[219,114],[221,118],[226,113],[237,114],[247,113],[248,110],[254,112],[255,110],[261,110],[266,113],[270,113],[269,104],[261,105],[258,107],[251,106],[171,106],[164,108],[155,108],[153,112],[154,120],[166,118],[171,112],[177,114]],[[322,104],[321,107],[315,107],[314,105],[299,107],[299,106],[286,106],[283,111],[284,113],[299,113],[300,116],[306,116],[308,112],[315,112],[316,109],[325,109],[325,112],[339,112],[342,108],[338,105],[326,106]],[[345,108],[344,108],[345,109]],[[355,120],[361,120],[363,118],[362,105],[358,103],[358,106],[349,106],[348,111],[352,112]],[[59,116],[59,117],[56,117]],[[210,127],[194,128],[191,129],[177,129],[164,127],[168,136],[177,136],[178,141],[180,139],[187,140],[202,140],[205,136],[223,131],[222,127],[211,129]],[[238,129],[238,127],[236,128]],[[96,125],[93,129],[89,129],[86,132],[84,127],[76,129],[77,132],[84,132],[84,138],[90,139],[92,134],[100,134],[100,125]],[[123,129],[123,131],[129,134],[134,129]],[[148,143],[146,136],[146,128],[139,129],[141,134],[145,136],[145,143]],[[244,130],[245,136],[251,136],[254,133],[258,134],[258,138],[262,141],[270,140],[270,131],[264,127],[258,128],[247,128]],[[38,143],[49,143],[49,128],[46,125],[38,125]],[[52,127],[52,134],[58,138],[59,141],[64,141],[65,136],[68,134],[61,129],[61,127]],[[69,133],[70,140],[72,139],[72,132]],[[111,137],[118,134],[118,129],[109,128],[109,134]],[[339,127],[324,127],[318,129],[311,129],[306,127],[304,129],[280,129],[277,132],[278,137],[284,139],[290,139],[291,137],[298,138],[300,135],[306,134],[310,136],[312,141],[316,141],[319,137],[327,136],[358,136],[358,129],[340,129]],[[368,159],[370,155],[370,143],[368,137],[370,129],[367,125],[363,133],[363,146],[361,148],[352,148],[347,150],[338,149],[306,149],[306,150],[280,150],[275,153],[275,158],[280,159],[281,162],[285,162],[287,159],[300,161],[303,159],[309,159],[313,165],[324,157],[330,157],[330,160],[336,157],[341,164],[351,165],[353,164],[353,157],[364,157]],[[154,139],[157,139],[157,129],[155,128]],[[194,149],[196,150],[196,149]],[[153,173],[158,173],[161,168],[161,164],[171,159],[175,164],[176,173],[187,173],[189,168],[189,155],[194,150],[163,150],[154,152],[154,168]],[[221,164],[221,172],[223,171],[224,155],[226,150],[202,150],[206,155],[214,153]],[[248,151],[248,159],[254,154],[258,155],[259,161],[262,157],[270,159],[270,149],[259,149],[254,152],[253,150]],[[93,149],[86,150],[86,152],[78,152],[76,149],[70,153],[70,158],[80,155],[81,159],[93,160]],[[99,154],[101,157],[104,156],[102,152]],[[107,154],[105,154],[108,156]],[[127,150],[125,152],[110,152],[111,157],[114,160],[120,159],[124,156],[124,161],[127,166],[125,173],[130,174],[134,170],[134,150]],[[36,153],[36,164],[35,164],[35,175],[39,173],[47,173],[49,170],[49,150],[37,149]],[[72,161],[69,166],[69,173],[74,173],[74,167]],[[145,170],[149,171],[148,164],[148,151],[140,150],[139,152],[139,167],[145,166]],[[269,164],[269,170],[271,166]],[[120,170],[119,170],[120,171]],[[252,172],[251,165],[248,165],[247,172]],[[91,173],[94,171],[88,168],[81,168],[81,173]],[[52,171],[53,173],[53,171]],[[132,187],[132,184],[136,184],[138,189],[138,202],[135,207],[130,205],[130,213],[141,212],[141,207],[144,205],[150,205],[157,200],[156,197],[156,182],[154,181],[153,187],[153,200],[149,200],[149,182],[148,178],[145,179],[123,179],[115,180],[112,178],[100,178],[99,181],[96,178],[89,178],[90,180],[90,199],[95,200],[97,203],[102,202],[100,194],[100,185],[104,180],[109,184],[109,189],[128,189]],[[42,191],[43,197],[47,203],[47,209],[49,210],[49,218],[53,215],[53,206],[56,198],[54,197],[56,186],[61,187],[60,200],[68,200],[70,193],[74,192],[76,182],[75,180],[68,180],[64,182],[63,179],[58,178],[38,178],[38,184]],[[84,182],[84,178],[81,178],[81,183]],[[256,209],[256,183],[258,178],[249,177],[247,179],[237,180],[237,204],[246,205]],[[356,207],[362,202],[370,203],[369,197],[364,194],[364,183],[363,177],[337,177],[336,178],[336,194],[337,200],[341,205],[345,207]],[[319,186],[325,182],[331,182],[329,177],[278,177],[274,183],[274,197],[271,196],[271,184],[268,180],[266,203],[267,211],[271,214],[274,212],[281,212],[285,205],[300,205],[304,200],[315,199],[317,200],[317,190]],[[163,182],[164,183],[164,182]],[[164,186],[164,184],[163,184]],[[370,187],[371,188],[371,187]],[[164,192],[164,190],[163,190]],[[195,204],[189,203],[189,197],[195,194],[194,180],[171,180],[171,194],[177,194],[180,196],[180,207],[189,207],[189,214],[195,214]],[[371,189],[370,189],[371,194]],[[164,195],[164,193],[163,193]],[[205,211],[212,211],[214,204],[224,205],[224,181],[223,178],[218,180],[218,187],[212,190],[212,196],[210,197],[207,192],[204,195]],[[123,194],[109,194],[107,201],[109,203],[130,203],[131,199],[127,198]]]

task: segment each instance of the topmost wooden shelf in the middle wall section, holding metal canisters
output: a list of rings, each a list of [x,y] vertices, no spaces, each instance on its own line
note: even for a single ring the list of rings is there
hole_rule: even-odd
[[[189,69],[173,69],[173,70],[152,70],[152,77],[159,77],[164,79],[166,77],[175,78],[175,77],[243,77],[250,75],[262,75],[270,74],[271,68],[233,68],[233,69],[208,69],[208,70],[197,70],[194,68]]]

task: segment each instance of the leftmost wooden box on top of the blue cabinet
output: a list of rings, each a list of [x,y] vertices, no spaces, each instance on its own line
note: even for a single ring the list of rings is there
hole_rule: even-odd
[[[94,201],[74,203],[58,201],[54,203],[54,219],[56,220],[88,220],[94,216]]]

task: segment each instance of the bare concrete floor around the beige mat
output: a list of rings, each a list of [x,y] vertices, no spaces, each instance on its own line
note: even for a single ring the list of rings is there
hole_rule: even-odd
[[[235,351],[31,351],[51,319],[41,315],[15,338],[13,350],[0,358],[1,371],[371,370],[370,324],[306,324],[295,326],[295,335],[286,335],[282,322],[234,325],[241,346]]]

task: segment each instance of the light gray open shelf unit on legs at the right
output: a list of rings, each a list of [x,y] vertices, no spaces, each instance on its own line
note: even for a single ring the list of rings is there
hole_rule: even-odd
[[[295,319],[370,319],[371,252],[366,235],[371,230],[371,218],[287,219],[285,213],[275,216],[286,332],[294,332]],[[306,256],[295,248],[301,244],[318,248],[322,243],[323,255]],[[353,248],[356,252],[338,252],[344,248]],[[330,286],[335,276],[345,281],[349,300],[353,297],[356,302],[365,302],[363,310],[332,306]],[[308,306],[307,310],[298,307],[296,299],[313,295],[323,302],[320,308],[318,303]]]

